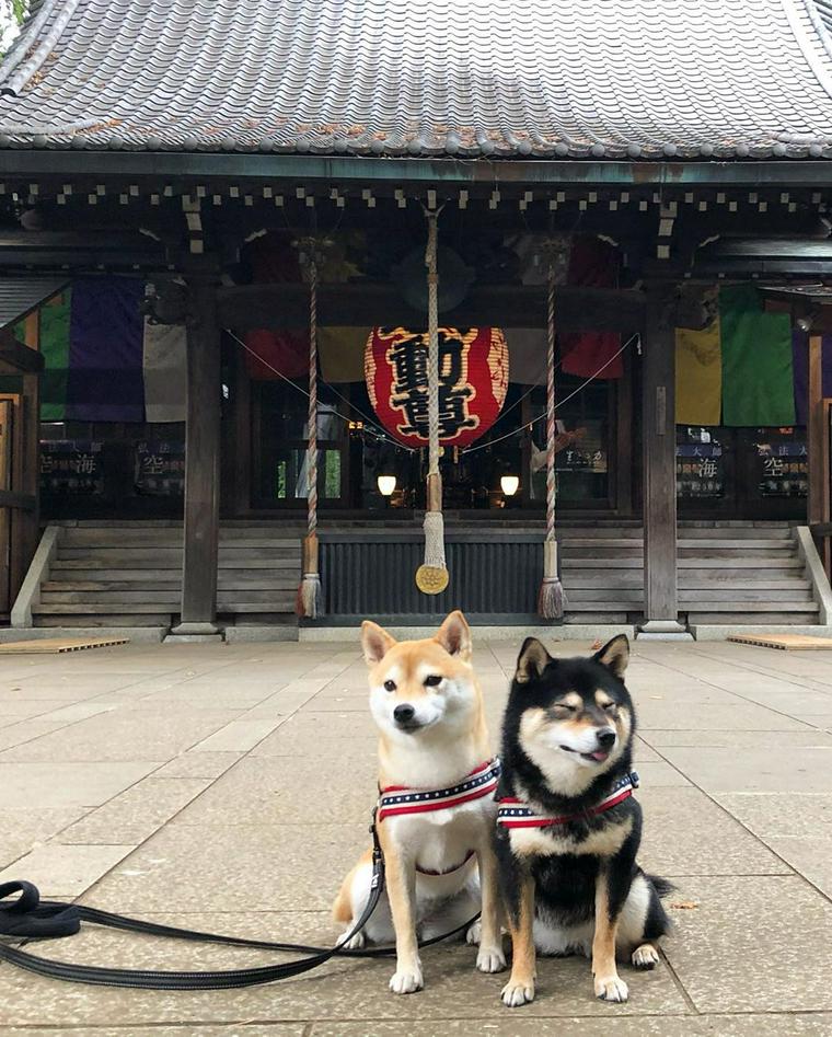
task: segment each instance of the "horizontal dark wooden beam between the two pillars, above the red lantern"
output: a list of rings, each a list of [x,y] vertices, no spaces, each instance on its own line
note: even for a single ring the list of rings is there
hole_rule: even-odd
[[[220,288],[217,309],[223,327],[305,327],[309,290],[304,285],[242,285]],[[419,326],[426,314],[413,310],[392,285],[322,285],[317,323],[330,326]],[[525,285],[474,288],[440,320],[461,327],[546,326],[546,290]],[[563,331],[637,332],[644,321],[644,293],[627,288],[559,288],[557,325]]]

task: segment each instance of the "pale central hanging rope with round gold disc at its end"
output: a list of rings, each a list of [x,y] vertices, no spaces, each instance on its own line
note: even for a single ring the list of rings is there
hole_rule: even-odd
[[[428,281],[428,481],[425,511],[425,562],[416,571],[416,586],[423,594],[438,595],[448,586],[442,518],[442,476],[439,472],[439,268],[437,249],[439,212],[426,209],[428,241],[425,267]]]

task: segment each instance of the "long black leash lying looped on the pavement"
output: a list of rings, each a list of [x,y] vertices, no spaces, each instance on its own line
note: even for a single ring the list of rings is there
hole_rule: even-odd
[[[32,940],[53,938],[74,935],[81,929],[81,922],[92,922],[106,929],[119,929],[131,933],[145,933],[151,936],[166,936],[172,940],[187,940],[195,943],[224,944],[232,947],[251,947],[259,950],[284,950],[305,954],[297,961],[284,961],[278,965],[265,965],[259,968],[228,969],[215,972],[158,971],[142,969],[109,969],[95,965],[74,965],[30,954],[20,947],[10,947],[0,942],[0,961],[8,961],[19,968],[49,979],[59,979],[71,983],[93,983],[100,987],[134,987],[145,990],[228,990],[236,987],[255,987],[261,983],[274,983],[280,979],[290,979],[317,968],[334,957],[377,958],[395,954],[394,947],[371,947],[350,950],[343,946],[359,933],[370,920],[384,890],[384,855],[381,852],[375,820],[370,827],[372,833],[372,876],[370,897],[361,917],[351,931],[335,947],[312,947],[305,944],[270,943],[262,940],[245,940],[241,936],[226,936],[219,933],[203,933],[190,929],[176,929],[145,922],[140,919],[112,914],[85,905],[42,901],[37,887],[32,883],[18,882],[0,884],[0,936]],[[16,900],[3,905],[14,894]],[[430,947],[442,940],[455,936],[472,925],[476,914],[463,925],[451,932],[434,936],[419,944]]]

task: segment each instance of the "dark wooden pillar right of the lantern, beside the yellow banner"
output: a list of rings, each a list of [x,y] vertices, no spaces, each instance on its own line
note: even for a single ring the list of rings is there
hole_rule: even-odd
[[[644,594],[642,633],[690,636],[679,623],[675,486],[675,287],[647,290],[642,338]]]

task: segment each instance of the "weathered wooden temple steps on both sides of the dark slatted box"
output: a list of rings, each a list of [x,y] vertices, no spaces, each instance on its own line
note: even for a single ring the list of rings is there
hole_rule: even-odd
[[[350,522],[343,525],[351,528]],[[405,528],[409,533],[415,529]],[[541,525],[495,525],[494,537],[504,531],[510,541],[513,529],[524,534],[527,543],[528,533],[534,533],[533,556],[538,558]],[[377,532],[381,541],[397,537],[392,523],[379,526]],[[222,525],[220,622],[296,623],[302,533],[297,522]],[[558,540],[568,600],[566,622],[639,623],[644,610],[640,526],[574,522],[558,529]],[[395,564],[397,555],[386,557]],[[470,572],[467,578],[475,574]],[[454,586],[464,597],[464,574]],[[680,619],[692,626],[811,625],[819,620],[814,588],[786,522],[681,522],[678,586]],[[33,619],[38,626],[171,626],[178,622],[181,590],[181,525],[77,523],[61,527],[57,554],[41,584],[39,600],[32,606]]]

